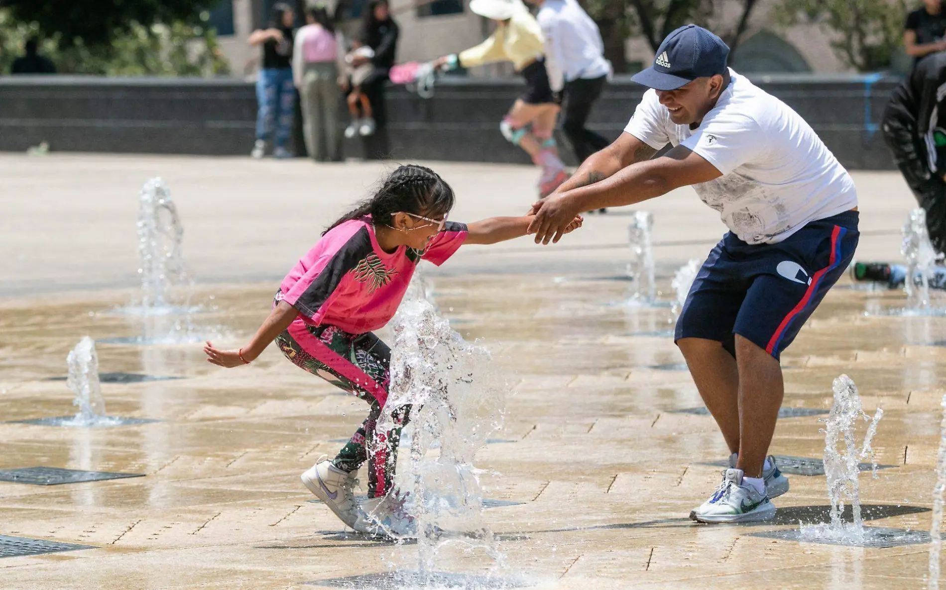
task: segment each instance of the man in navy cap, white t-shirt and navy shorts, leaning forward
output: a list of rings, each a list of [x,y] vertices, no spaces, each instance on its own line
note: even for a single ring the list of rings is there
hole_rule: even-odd
[[[766,457],[784,387],[779,357],[850,264],[857,194],[815,131],[778,98],[727,68],[705,28],[672,32],[622,136],[534,205],[535,241],[558,241],[581,211],[692,185],[729,232],[696,275],[674,341],[730,456],[723,481],[690,516],[765,520],[788,479]],[[651,159],[667,144],[665,155]]]

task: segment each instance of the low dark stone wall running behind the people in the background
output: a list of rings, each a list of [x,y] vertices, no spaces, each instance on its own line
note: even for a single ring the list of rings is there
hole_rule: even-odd
[[[801,114],[851,169],[892,169],[877,130],[895,79],[864,76],[753,77]],[[388,132],[346,141],[348,156],[395,160],[528,163],[499,134],[499,119],[522,89],[517,79],[439,80],[432,98],[389,87]],[[616,79],[589,127],[617,137],[643,89]],[[42,141],[57,151],[248,154],[254,85],[182,78],[0,78],[0,150]],[[344,125],[344,122],[342,122]],[[568,150],[566,150],[567,152]]]

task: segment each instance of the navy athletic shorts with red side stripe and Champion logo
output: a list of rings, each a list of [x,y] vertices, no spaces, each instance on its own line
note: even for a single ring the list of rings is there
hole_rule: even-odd
[[[856,211],[818,219],[778,244],[724,235],[693,281],[674,342],[718,340],[735,356],[738,334],[778,359],[848,269],[857,219]]]

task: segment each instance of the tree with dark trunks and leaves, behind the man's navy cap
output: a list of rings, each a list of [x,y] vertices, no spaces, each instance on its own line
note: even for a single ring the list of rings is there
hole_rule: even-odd
[[[725,0],[582,0],[588,15],[601,28],[604,52],[619,72],[626,71],[624,39],[642,36],[656,52],[664,38],[678,26],[707,26],[729,48],[745,36],[749,17],[759,0],[738,0],[740,16],[733,24],[718,23]],[[712,26],[710,26],[712,24]]]

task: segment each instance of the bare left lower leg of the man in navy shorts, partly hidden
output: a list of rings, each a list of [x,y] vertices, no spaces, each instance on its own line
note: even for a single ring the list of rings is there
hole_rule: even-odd
[[[723,343],[706,338],[676,341],[703,403],[710,410],[730,453],[739,452],[739,371]]]

